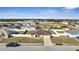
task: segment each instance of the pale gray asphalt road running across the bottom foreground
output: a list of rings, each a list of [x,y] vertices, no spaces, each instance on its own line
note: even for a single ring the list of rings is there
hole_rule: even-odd
[[[20,46],[0,47],[0,51],[76,51],[79,46]]]

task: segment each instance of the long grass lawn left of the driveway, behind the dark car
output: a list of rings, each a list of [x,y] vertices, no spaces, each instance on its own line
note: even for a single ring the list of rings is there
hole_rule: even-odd
[[[28,37],[12,37],[7,39],[0,39],[0,43],[17,42],[17,43],[43,43],[42,39],[28,38]]]

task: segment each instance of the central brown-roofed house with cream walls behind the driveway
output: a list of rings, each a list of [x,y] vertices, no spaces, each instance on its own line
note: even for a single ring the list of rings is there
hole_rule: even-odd
[[[29,31],[27,32],[28,35],[31,35],[31,37],[34,38],[44,38],[44,37],[50,37],[51,33],[44,29],[37,29],[35,31]]]

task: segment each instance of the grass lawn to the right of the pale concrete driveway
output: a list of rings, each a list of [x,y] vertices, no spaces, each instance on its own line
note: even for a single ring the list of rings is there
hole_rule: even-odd
[[[51,41],[52,43],[79,43],[70,37],[53,37],[51,38]]]

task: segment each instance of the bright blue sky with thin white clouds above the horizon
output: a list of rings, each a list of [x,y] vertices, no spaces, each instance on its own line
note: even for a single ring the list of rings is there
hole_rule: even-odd
[[[79,19],[78,7],[0,7],[0,18]]]

